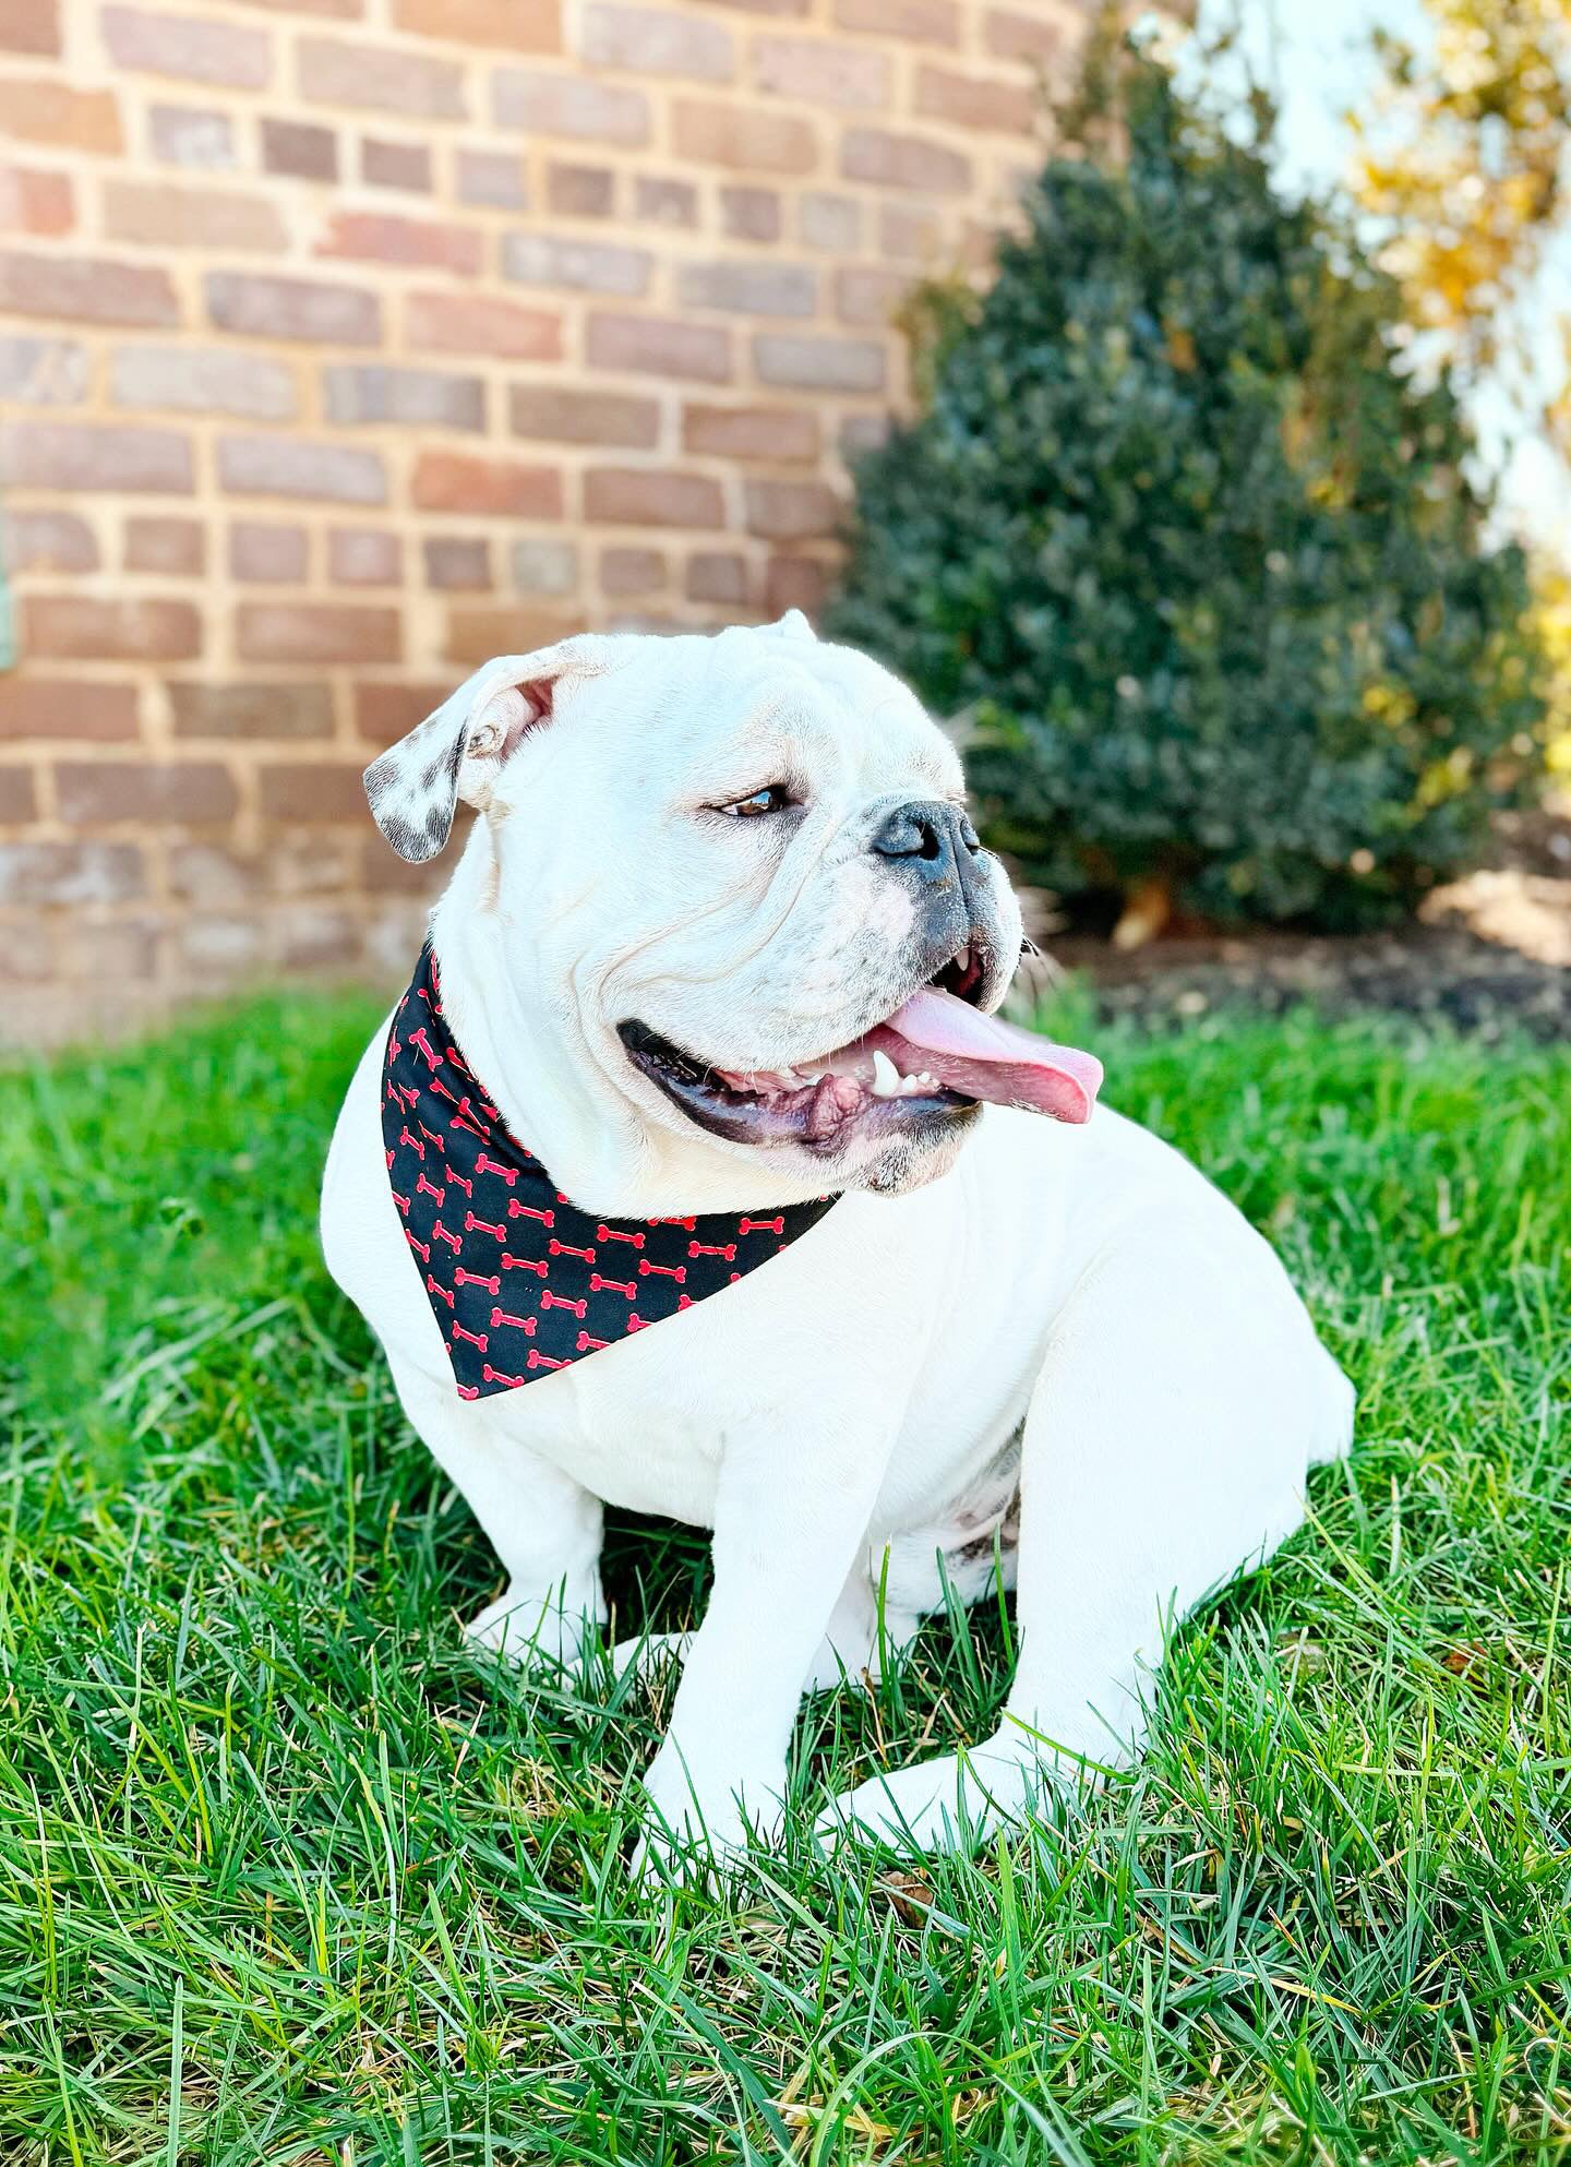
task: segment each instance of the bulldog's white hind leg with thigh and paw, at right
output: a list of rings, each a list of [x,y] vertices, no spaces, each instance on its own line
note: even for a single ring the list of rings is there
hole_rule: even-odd
[[[1127,1766],[1166,1630],[1298,1526],[1350,1398],[1274,1259],[1200,1244],[1105,1259],[1053,1328],[1025,1424],[1003,1723],[847,1792],[821,1833],[945,1848],[1018,1818],[1044,1783]]]

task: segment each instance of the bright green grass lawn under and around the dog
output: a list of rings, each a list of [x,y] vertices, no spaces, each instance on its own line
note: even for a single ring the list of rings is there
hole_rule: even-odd
[[[670,1684],[459,1653],[496,1586],[316,1257],[364,1008],[0,1079],[0,2160],[1571,2156],[1571,1055],[1103,1034],[1361,1396],[1142,1766],[975,1864],[641,1898]],[[620,1630],[704,1545],[613,1534]],[[997,1617],[815,1701],[804,1807],[977,1738]]]

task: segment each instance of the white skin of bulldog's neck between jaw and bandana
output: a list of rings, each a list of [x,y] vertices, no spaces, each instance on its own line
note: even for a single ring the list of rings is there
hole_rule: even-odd
[[[511,940],[516,932],[494,906],[492,854],[477,823],[431,912],[442,1012],[511,1136],[574,1205],[611,1218],[676,1218],[776,1209],[834,1185],[828,1170],[782,1170],[763,1153],[700,1129],[678,1136],[648,1118],[609,1073],[609,1064],[620,1070],[626,1062],[615,1038],[596,1042],[576,1016],[550,1018],[522,995]]]

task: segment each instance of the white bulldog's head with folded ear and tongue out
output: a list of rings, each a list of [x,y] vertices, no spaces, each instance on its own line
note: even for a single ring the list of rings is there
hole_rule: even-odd
[[[468,958],[468,1003],[505,1010],[496,1053],[524,1031],[557,1107],[594,1127],[594,1149],[535,1146],[559,1179],[583,1168],[592,1209],[648,1207],[672,1146],[745,1159],[767,1203],[914,1188],[986,1097],[1090,1112],[1090,1055],[990,1021],[1021,917],[953,745],[797,611],[503,657],[373,761],[366,793],[416,862],[459,800],[479,810],[438,953]]]

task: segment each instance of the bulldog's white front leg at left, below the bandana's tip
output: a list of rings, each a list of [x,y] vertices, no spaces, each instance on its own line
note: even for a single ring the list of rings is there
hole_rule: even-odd
[[[464,1627],[466,1638],[514,1662],[574,1662],[585,1632],[607,1614],[600,1500],[520,1445],[483,1400],[459,1400],[451,1385],[399,1363],[392,1380],[507,1573],[505,1591]]]

